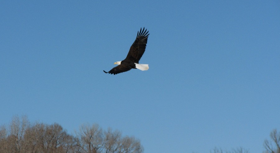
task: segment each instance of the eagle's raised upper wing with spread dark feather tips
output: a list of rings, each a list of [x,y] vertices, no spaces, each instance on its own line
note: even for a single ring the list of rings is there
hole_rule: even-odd
[[[149,31],[147,31],[147,29],[145,31],[144,30],[145,28],[143,28],[143,30],[140,28],[140,32],[138,31],[136,39],[130,47],[128,55],[126,56],[126,59],[129,59],[134,63],[139,62],[146,49]]]

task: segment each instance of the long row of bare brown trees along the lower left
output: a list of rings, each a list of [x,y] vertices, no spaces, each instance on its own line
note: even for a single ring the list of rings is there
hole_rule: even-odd
[[[1,153],[142,153],[140,141],[123,137],[118,130],[98,124],[81,125],[74,135],[57,123],[30,124],[26,116],[14,116],[0,127]]]

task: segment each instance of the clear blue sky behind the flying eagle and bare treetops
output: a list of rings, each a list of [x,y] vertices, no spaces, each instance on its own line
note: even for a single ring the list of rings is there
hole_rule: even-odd
[[[280,1],[1,1],[0,125],[139,138],[145,153],[264,151],[280,128]],[[150,31],[133,69],[123,60]]]

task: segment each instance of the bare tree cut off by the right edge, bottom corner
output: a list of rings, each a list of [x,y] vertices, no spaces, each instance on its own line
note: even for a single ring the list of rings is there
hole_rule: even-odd
[[[274,129],[272,132],[270,132],[270,138],[271,141],[265,140],[264,141],[264,148],[266,149],[266,153],[280,153],[280,132],[277,132],[276,129]],[[276,148],[274,148],[274,145]]]

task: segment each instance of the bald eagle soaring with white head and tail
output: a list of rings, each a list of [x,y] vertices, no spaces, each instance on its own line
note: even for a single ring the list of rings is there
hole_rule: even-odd
[[[131,70],[132,68],[137,68],[142,71],[148,70],[149,66],[148,64],[139,64],[139,60],[142,57],[142,55],[145,52],[146,44],[148,40],[148,32],[147,29],[140,28],[140,32],[138,31],[135,41],[133,42],[132,46],[130,47],[130,50],[128,51],[128,54],[126,58],[122,61],[115,62],[114,64],[117,64],[118,66],[112,68],[109,72],[104,71],[105,73],[109,74],[118,74],[122,72],[126,72]]]

